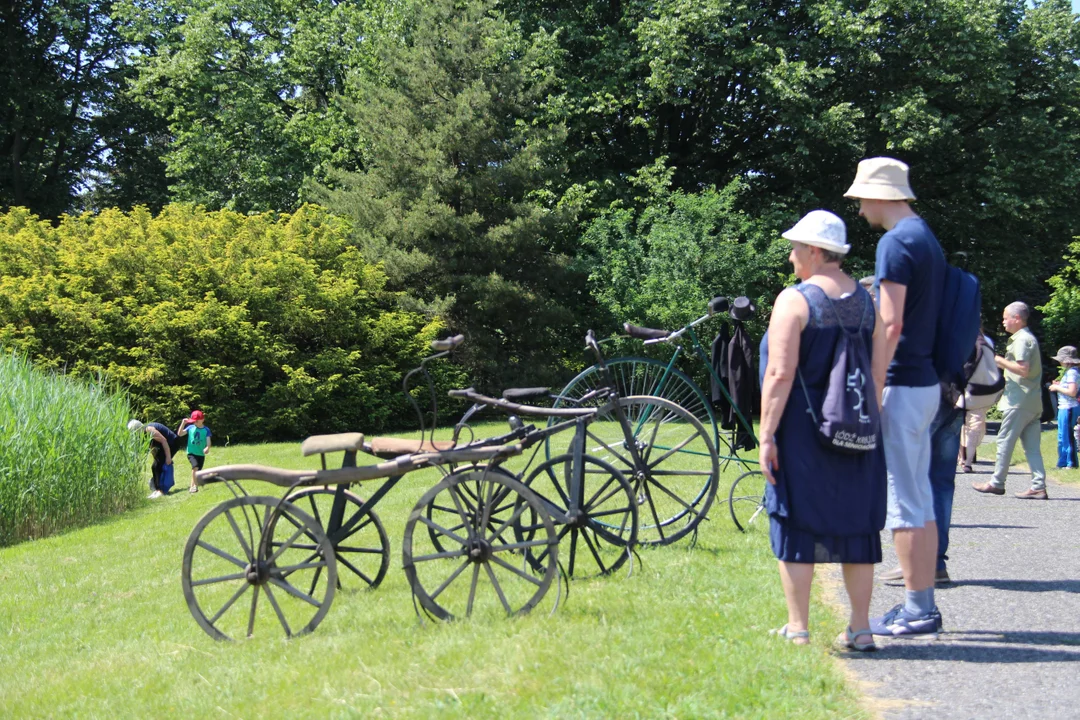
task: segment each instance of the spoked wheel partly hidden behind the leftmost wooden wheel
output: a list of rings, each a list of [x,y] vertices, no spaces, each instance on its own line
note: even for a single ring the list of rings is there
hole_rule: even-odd
[[[314,517],[329,538],[340,566],[338,589],[379,586],[390,567],[390,540],[375,511],[356,517],[363,498],[345,488],[308,488],[294,492],[288,501]],[[337,529],[332,530],[334,526]],[[316,545],[313,538],[297,543],[297,547],[312,554]]]

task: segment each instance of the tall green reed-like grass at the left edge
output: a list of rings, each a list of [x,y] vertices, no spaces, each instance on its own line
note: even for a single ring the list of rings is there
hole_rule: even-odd
[[[147,439],[126,395],[0,354],[0,546],[136,505]]]

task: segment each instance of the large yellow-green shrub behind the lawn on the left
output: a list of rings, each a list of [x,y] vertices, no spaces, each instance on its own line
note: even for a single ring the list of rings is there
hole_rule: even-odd
[[[0,215],[0,344],[104,372],[146,420],[200,407],[218,441],[415,422],[401,376],[441,325],[397,307],[348,230],[315,206],[170,205],[55,228],[14,208]]]

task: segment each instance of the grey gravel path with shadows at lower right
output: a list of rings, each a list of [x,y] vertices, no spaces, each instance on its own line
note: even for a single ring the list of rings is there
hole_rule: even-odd
[[[886,720],[1080,718],[1080,486],[1051,481],[1049,501],[1017,500],[1030,474],[1016,471],[1008,494],[983,495],[971,483],[988,479],[993,452],[984,445],[975,474],[956,478],[954,582],[935,592],[945,631],[843,655]],[[897,565],[885,536],[878,575]],[[902,600],[903,588],[878,583],[870,614]]]

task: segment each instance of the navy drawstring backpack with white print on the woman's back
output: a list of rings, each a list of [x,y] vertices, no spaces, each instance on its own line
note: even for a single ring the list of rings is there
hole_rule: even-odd
[[[869,293],[862,287],[855,291],[862,294],[866,304],[873,305]],[[828,300],[839,322],[840,315],[836,312],[832,298],[826,296],[824,290],[822,295]],[[865,308],[866,305],[863,307],[863,318],[860,320],[858,330],[849,332],[842,324],[839,325],[840,337],[833,348],[828,386],[825,389],[820,412],[814,412],[801,370],[798,373],[802,393],[807,398],[807,409],[818,426],[818,439],[825,447],[848,454],[876,449],[878,431],[881,426],[870,369],[870,353],[862,336],[866,317]]]

